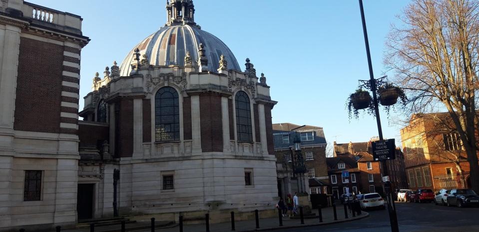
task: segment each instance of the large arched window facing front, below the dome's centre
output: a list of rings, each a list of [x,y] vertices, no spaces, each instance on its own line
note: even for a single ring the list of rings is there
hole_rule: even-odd
[[[155,140],[172,141],[179,139],[178,92],[171,87],[163,87],[155,95]]]

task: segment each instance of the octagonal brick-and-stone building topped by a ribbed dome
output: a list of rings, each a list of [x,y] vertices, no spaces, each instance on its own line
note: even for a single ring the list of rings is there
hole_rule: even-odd
[[[78,122],[78,219],[272,209],[270,87],[167,1],[167,23],[93,78]],[[186,213],[185,213],[186,214]],[[229,220],[229,219],[228,219]]]

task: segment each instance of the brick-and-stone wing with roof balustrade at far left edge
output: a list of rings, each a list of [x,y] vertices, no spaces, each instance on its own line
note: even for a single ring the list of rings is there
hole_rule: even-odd
[[[0,231],[76,222],[81,21],[0,3]]]

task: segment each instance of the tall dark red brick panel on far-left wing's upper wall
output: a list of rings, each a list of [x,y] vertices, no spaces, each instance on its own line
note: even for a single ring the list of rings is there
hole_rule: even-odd
[[[62,62],[63,46],[20,38],[15,130],[60,132]]]

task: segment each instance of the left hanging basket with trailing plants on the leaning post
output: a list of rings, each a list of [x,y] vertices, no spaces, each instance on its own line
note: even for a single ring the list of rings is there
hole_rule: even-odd
[[[349,119],[359,118],[359,111],[364,110],[369,115],[374,116],[374,104],[368,91],[357,89],[356,92],[349,95],[346,103],[349,112]]]

